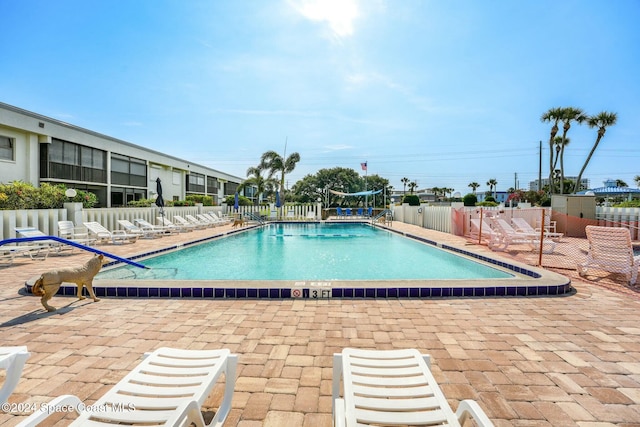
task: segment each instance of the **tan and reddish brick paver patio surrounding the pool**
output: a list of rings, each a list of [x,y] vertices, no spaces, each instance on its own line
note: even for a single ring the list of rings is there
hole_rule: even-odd
[[[464,244],[455,236],[393,226]],[[100,248],[127,255],[212,232]],[[0,345],[27,345],[32,353],[10,402],[76,394],[90,404],[145,351],[225,347],[239,355],[225,425],[330,426],[334,352],[412,347],[432,355],[434,375],[454,409],[462,399],[475,399],[496,426],[640,426],[637,287],[585,282],[560,271],[572,276],[574,295],[98,303],[56,296],[55,313],[21,291],[26,279],[87,256],[24,258],[0,269]],[[214,267],[221,268],[211,260]],[[220,384],[210,406],[221,395]],[[0,426],[13,426],[27,413],[0,413]],[[61,417],[48,425],[73,418]]]

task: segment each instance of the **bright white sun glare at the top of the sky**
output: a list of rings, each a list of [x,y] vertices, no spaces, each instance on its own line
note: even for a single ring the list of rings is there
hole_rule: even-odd
[[[356,0],[290,0],[305,18],[326,23],[339,38],[353,34],[353,22],[359,16]]]

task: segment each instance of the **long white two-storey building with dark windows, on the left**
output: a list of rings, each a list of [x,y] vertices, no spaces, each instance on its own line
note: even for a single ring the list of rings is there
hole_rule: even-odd
[[[189,194],[220,204],[243,178],[0,102],[0,182],[65,184],[98,196],[98,207]]]

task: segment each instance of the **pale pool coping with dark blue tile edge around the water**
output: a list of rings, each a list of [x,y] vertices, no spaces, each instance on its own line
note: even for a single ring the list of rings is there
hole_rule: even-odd
[[[321,221],[272,221],[271,223],[319,223]],[[330,221],[332,224],[339,221]],[[354,223],[356,221],[345,221]],[[359,221],[404,237],[454,252],[458,255],[481,261],[514,274],[504,279],[405,279],[405,280],[116,280],[96,279],[93,287],[98,297],[125,298],[433,298],[433,297],[501,297],[501,296],[559,296],[574,292],[571,279],[560,274],[521,264],[516,261],[503,261],[468,249],[440,243],[412,233]],[[249,225],[241,229],[232,229],[205,238],[178,243],[131,256],[136,260],[179,250],[184,247],[224,238],[261,227],[263,224]],[[105,267],[120,264],[110,262]],[[36,277],[25,283],[27,292],[31,292]],[[540,281],[540,282],[538,282]],[[472,282],[472,285],[470,285]],[[542,283],[544,282],[544,284]],[[75,296],[75,285],[63,285],[58,295]],[[85,290],[86,293],[86,290]]]

